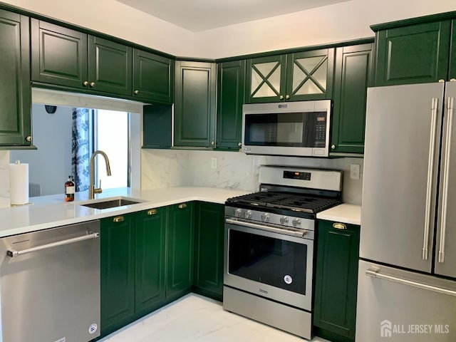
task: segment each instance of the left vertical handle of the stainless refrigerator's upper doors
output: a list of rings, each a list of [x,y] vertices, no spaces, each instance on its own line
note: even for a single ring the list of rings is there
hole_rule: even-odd
[[[439,99],[432,98],[432,116],[430,125],[430,140],[429,140],[429,160],[427,161],[427,186],[426,186],[426,211],[425,211],[425,230],[423,236],[423,260],[429,257],[429,231],[431,220],[431,201],[432,201],[432,173],[434,170],[435,160],[435,133],[437,130],[437,110],[439,107]]]

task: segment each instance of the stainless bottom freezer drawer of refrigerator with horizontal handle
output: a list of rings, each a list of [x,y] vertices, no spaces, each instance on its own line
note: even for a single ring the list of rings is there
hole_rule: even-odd
[[[356,342],[456,341],[455,295],[454,281],[361,260]]]

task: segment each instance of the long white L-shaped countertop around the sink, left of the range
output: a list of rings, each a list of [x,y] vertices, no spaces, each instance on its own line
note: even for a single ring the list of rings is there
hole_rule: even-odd
[[[110,209],[83,207],[81,204],[90,202],[87,192],[77,192],[73,202],[65,202],[63,194],[31,197],[31,204],[0,209],[0,237],[164,207],[180,202],[204,201],[224,204],[229,197],[247,193],[249,192],[214,187],[166,187],[142,191],[128,188],[103,190],[101,194],[95,195],[95,199],[124,196],[143,201],[140,204]]]

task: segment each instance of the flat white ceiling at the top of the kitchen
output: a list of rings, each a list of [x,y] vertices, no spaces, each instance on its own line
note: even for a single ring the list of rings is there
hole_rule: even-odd
[[[197,32],[349,0],[117,0]]]

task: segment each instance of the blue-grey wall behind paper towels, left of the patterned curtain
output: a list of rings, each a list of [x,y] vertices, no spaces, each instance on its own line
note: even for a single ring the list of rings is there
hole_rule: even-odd
[[[11,162],[28,163],[28,182],[41,185],[41,195],[63,194],[71,171],[72,108],[58,106],[48,114],[44,105],[32,105],[33,145],[38,150],[14,150]]]

